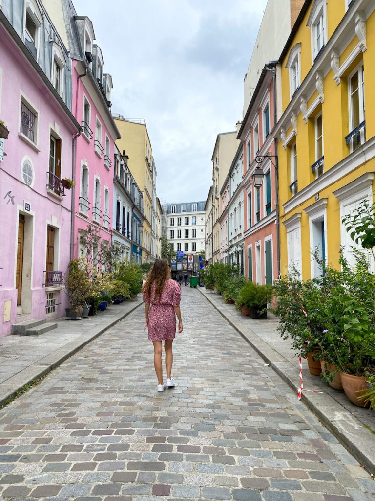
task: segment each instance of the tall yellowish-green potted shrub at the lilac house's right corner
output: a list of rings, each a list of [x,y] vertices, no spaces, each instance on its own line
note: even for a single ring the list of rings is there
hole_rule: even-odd
[[[64,278],[64,292],[68,297],[70,308],[65,309],[66,320],[80,320],[81,303],[89,292],[89,283],[82,259],[73,259],[68,264],[68,273]]]

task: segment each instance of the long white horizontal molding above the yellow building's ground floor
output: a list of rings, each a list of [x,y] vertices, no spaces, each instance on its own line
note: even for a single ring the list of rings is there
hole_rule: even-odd
[[[342,159],[340,162],[333,165],[330,169],[326,170],[322,176],[318,177],[315,181],[302,188],[290,200],[285,202],[282,206],[285,213],[297,207],[299,204],[308,200],[308,198],[327,188],[334,182],[343,178],[353,170],[357,169],[360,165],[371,160],[375,157],[375,137],[366,141],[360,148],[356,149],[350,155]]]

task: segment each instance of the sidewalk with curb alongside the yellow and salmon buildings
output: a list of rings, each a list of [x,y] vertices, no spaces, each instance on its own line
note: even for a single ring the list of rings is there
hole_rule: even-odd
[[[277,319],[268,313],[267,320],[244,317],[227,305],[222,297],[204,288],[198,291],[234,327],[279,376],[295,390],[299,387],[298,359],[291,351],[289,340],[282,340],[276,331]],[[302,360],[302,401],[317,415],[360,464],[375,474],[375,412],[353,405],[343,392],[333,390],[308,372]],[[319,393],[313,393],[318,391]]]

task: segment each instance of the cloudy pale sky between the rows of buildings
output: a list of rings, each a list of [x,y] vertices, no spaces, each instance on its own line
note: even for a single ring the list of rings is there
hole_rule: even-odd
[[[243,77],[266,0],[73,4],[91,19],[112,75],[112,112],[146,122],[157,196],[205,200],[216,135],[242,118]]]

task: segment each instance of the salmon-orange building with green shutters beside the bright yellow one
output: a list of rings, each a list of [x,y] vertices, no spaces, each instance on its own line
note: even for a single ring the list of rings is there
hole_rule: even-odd
[[[271,284],[279,274],[276,214],[275,125],[276,76],[266,65],[242,121],[237,138],[243,144],[243,203],[245,275],[258,284]],[[261,164],[255,161],[261,159]],[[255,168],[263,170],[263,184],[254,186]]]

